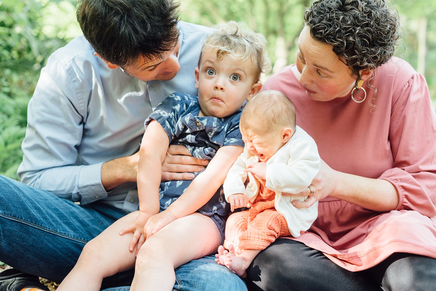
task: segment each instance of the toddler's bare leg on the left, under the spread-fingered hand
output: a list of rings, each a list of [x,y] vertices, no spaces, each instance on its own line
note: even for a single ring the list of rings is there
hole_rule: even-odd
[[[57,290],[99,291],[103,278],[133,268],[136,250],[129,251],[133,233],[120,236],[119,232],[133,223],[136,216],[138,212],[129,213],[89,241]]]

